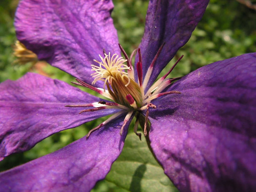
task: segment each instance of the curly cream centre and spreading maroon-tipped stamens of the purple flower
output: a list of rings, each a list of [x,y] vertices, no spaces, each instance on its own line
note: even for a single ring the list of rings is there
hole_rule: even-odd
[[[134,126],[134,132],[136,135],[138,135],[141,138],[141,134],[137,133],[137,127],[139,124],[139,117],[141,116],[141,111],[146,110],[145,115],[145,124],[144,124],[144,135],[147,135],[146,127],[147,127],[147,121],[148,121],[148,109],[156,108],[154,104],[151,103],[152,100],[161,97],[166,94],[172,94],[172,93],[180,93],[179,91],[168,91],[168,92],[162,92],[165,88],[167,88],[173,81],[178,80],[179,78],[174,79],[166,79],[167,75],[173,70],[173,68],[176,66],[176,64],[179,62],[179,60],[183,57],[181,56],[178,61],[174,64],[174,66],[165,74],[165,76],[161,77],[159,80],[157,80],[144,94],[144,90],[147,87],[148,80],[151,76],[151,73],[154,69],[154,63],[156,59],[158,58],[164,44],[159,48],[155,58],[153,59],[150,67],[147,70],[147,73],[145,75],[145,78],[143,80],[143,74],[142,74],[142,56],[140,48],[138,48],[138,55],[139,55],[139,61],[137,62],[137,76],[138,76],[138,83],[134,79],[134,70],[133,66],[131,65],[131,60],[133,57],[133,54],[130,58],[128,58],[127,54],[125,53],[122,46],[119,44],[119,47],[121,51],[124,54],[125,59],[123,57],[119,57],[117,54],[113,54],[111,56],[110,52],[109,54],[104,54],[105,57],[101,57],[101,61],[94,60],[99,65],[91,65],[92,71],[95,71],[92,73],[92,77],[94,78],[92,84],[95,84],[97,81],[104,81],[103,84],[103,90],[100,88],[95,88],[79,79],[76,79],[78,83],[72,82],[77,85],[81,85],[87,88],[90,88],[104,97],[113,100],[114,102],[95,102],[90,104],[84,104],[84,105],[66,105],[68,107],[94,107],[90,109],[84,109],[80,111],[80,113],[83,112],[89,112],[89,111],[97,111],[102,109],[120,109],[119,112],[113,114],[108,120],[104,121],[87,134],[87,137],[91,134],[91,132],[99,129],[106,123],[112,121],[113,119],[126,114],[126,117],[123,121],[123,125],[120,130],[120,134],[122,135],[124,126],[126,123],[132,118],[133,115],[136,115],[136,122]],[[127,62],[127,65],[124,63]],[[107,90],[105,90],[105,87],[107,87]]]

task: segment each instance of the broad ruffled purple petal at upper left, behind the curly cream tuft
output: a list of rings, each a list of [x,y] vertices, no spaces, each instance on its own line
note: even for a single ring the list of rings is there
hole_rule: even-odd
[[[113,7],[111,0],[22,0],[15,18],[17,38],[40,60],[91,83],[90,65],[103,48],[120,55]]]

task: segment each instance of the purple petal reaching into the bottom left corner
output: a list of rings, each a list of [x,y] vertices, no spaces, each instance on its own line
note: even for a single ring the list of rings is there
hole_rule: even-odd
[[[90,191],[120,155],[124,116],[66,147],[0,173],[2,191]]]

